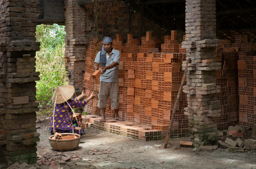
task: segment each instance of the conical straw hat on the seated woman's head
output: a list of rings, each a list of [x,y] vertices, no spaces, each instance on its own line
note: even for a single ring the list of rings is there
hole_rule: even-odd
[[[56,94],[61,94],[66,100],[70,99],[75,92],[75,88],[70,85],[58,86],[55,92],[52,95],[51,101],[55,103]],[[57,95],[56,104],[64,103],[65,100],[61,97],[61,95]]]

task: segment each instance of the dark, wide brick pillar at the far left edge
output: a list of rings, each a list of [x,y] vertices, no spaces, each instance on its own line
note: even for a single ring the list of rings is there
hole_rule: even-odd
[[[0,168],[36,163],[35,19],[36,0],[0,1]]]

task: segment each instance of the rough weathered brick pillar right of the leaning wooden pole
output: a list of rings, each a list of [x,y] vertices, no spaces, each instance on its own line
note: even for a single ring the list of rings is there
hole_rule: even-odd
[[[214,131],[220,101],[216,100],[216,92],[220,92],[220,86],[216,86],[216,70],[221,69],[221,63],[215,59],[217,46],[216,1],[186,0],[186,41],[182,42],[182,48],[186,48],[187,59],[192,61],[183,92],[187,93],[185,115],[189,117],[190,140],[195,147],[217,141]]]

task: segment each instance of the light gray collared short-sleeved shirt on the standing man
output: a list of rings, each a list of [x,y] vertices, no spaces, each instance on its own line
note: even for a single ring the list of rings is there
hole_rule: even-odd
[[[120,52],[118,50],[112,49],[109,58],[107,58],[106,53],[106,66],[120,61]],[[94,63],[100,63],[100,51],[96,55]],[[111,69],[107,69],[103,75],[100,75],[100,81],[102,82],[118,82],[118,65]]]

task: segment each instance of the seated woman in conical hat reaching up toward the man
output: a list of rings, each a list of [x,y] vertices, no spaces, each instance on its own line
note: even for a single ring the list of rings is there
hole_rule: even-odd
[[[86,96],[84,91],[82,94],[80,94],[78,97],[74,99],[70,99],[75,92],[75,88],[70,85],[65,85],[65,86],[58,86],[56,91],[53,93],[52,96],[52,102],[55,103],[56,100],[56,105],[54,109],[54,118],[53,114],[51,116],[50,120],[50,132],[53,135],[55,132],[57,133],[73,133],[73,127],[74,127],[74,133],[79,134],[80,130],[80,135],[84,134],[84,130],[78,126],[77,120],[72,120],[73,118],[73,112],[71,108],[68,106],[68,104],[72,108],[78,108],[78,107],[83,107],[85,106],[91,99],[93,99],[96,95],[94,95],[94,92],[88,97],[87,99],[83,101],[81,100],[83,97]],[[63,98],[61,95],[65,98]],[[57,99],[56,99],[57,97]],[[67,102],[68,104],[67,104]],[[53,132],[53,120],[54,120],[54,130]],[[72,121],[72,123],[71,123]],[[73,126],[72,126],[73,124]]]

